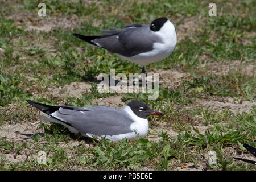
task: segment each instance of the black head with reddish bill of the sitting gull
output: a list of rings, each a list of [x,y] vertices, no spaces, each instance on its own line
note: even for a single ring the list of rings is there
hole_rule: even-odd
[[[138,117],[146,119],[148,115],[164,115],[160,111],[152,110],[146,104],[141,101],[133,100],[127,104],[131,108],[131,110],[136,114]]]

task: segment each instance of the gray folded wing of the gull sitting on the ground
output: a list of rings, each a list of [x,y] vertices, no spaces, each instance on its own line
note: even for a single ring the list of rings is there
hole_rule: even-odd
[[[80,133],[94,135],[118,135],[129,133],[133,121],[123,109],[97,106],[73,110],[73,108],[60,107],[51,114],[71,125]]]

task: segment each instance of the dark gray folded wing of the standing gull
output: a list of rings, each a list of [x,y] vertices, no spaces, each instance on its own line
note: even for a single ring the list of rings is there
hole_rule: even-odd
[[[129,24],[119,31],[107,31],[93,40],[98,46],[110,52],[131,57],[138,53],[151,51],[154,42],[159,42],[146,24]]]

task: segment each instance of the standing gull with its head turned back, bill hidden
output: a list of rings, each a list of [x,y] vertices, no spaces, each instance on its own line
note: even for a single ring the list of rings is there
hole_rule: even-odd
[[[174,25],[167,18],[155,19],[147,24],[129,24],[122,29],[102,30],[102,35],[73,34],[92,46],[107,49],[122,59],[145,66],[169,56],[176,46]]]

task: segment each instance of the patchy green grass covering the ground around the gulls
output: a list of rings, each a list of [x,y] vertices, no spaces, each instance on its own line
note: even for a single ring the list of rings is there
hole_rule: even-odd
[[[247,72],[248,68],[254,70],[256,59],[254,1],[216,1],[217,16],[209,17],[207,1],[56,0],[45,2],[47,17],[38,18],[39,2],[0,0],[0,127],[38,121],[37,110],[26,99],[50,105],[93,106],[99,98],[119,96],[97,92],[94,81],[100,73],[109,75],[110,69],[126,76],[141,72],[140,66],[88,46],[72,36],[73,32],[94,35],[100,29],[149,24],[157,17],[167,16],[175,24],[179,43],[171,56],[147,65],[146,70],[177,71],[184,77],[179,82],[165,80],[172,86],[159,85],[156,100],[149,100],[149,94],[121,94],[125,104],[141,100],[165,114],[155,123],[149,119],[150,134],[158,140],[96,141],[77,137],[57,124],[41,123],[39,128],[44,135],[31,135],[26,141],[0,135],[1,170],[176,170],[191,165],[194,169],[255,171],[255,166],[232,159],[233,154],[241,152],[250,156],[243,143],[255,147],[255,105],[247,113],[232,113],[198,102],[224,102],[226,98],[237,103],[255,102],[255,73]],[[52,27],[49,32],[26,31],[29,25],[40,28],[53,19],[61,26]],[[180,28],[191,21],[195,30],[191,26]],[[222,72],[224,63],[240,65]],[[60,97],[48,91],[72,82],[86,82],[92,87],[77,97]],[[201,126],[207,129],[201,132]],[[158,128],[161,131],[155,134]],[[167,134],[171,130],[177,137]],[[79,144],[73,146],[76,142]],[[207,160],[201,154],[209,150],[217,152],[217,165],[202,167]],[[39,151],[46,152],[45,165],[36,161]],[[10,163],[8,155],[26,158]]]

